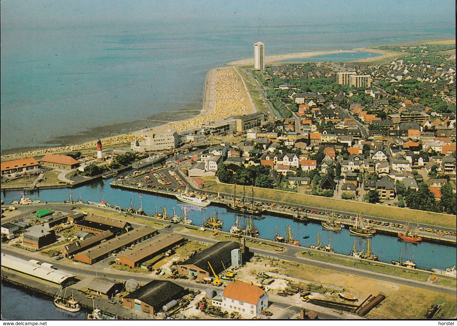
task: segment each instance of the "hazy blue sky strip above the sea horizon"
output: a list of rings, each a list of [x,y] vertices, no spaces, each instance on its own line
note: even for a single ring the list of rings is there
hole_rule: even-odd
[[[1,27],[133,22],[265,25],[367,21],[455,26],[453,0],[2,0]]]

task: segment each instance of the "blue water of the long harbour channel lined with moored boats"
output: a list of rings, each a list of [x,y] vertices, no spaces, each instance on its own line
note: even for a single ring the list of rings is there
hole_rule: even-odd
[[[125,172],[124,174],[128,174]],[[84,202],[104,200],[111,205],[118,205],[122,209],[129,207],[130,201],[133,200],[133,207],[138,209],[140,204],[143,210],[149,216],[155,214],[155,210],[160,212],[161,208],[166,208],[169,216],[173,216],[173,209],[177,215],[182,215],[181,209],[186,210],[187,216],[193,221],[194,225],[201,225],[203,218],[217,214],[218,218],[223,220],[223,231],[229,231],[230,226],[235,221],[236,213],[227,210],[225,207],[210,205],[206,208],[188,205],[174,198],[159,196],[149,193],[139,193],[131,190],[113,188],[110,186],[112,179],[96,181],[92,184],[72,189],[71,192],[74,200],[82,198]],[[39,193],[28,195],[31,199],[46,201],[64,201],[69,200],[69,189],[48,189],[41,190]],[[1,198],[5,203],[11,203],[21,197],[20,191],[6,192]],[[239,216],[240,217],[240,216]],[[275,226],[278,232],[285,236],[285,228],[291,226],[292,235],[300,241],[300,245],[309,247],[317,244],[317,233],[321,233],[321,242],[324,245],[331,244],[331,247],[337,253],[349,255],[356,242],[358,250],[365,249],[365,238],[352,236],[348,228],[340,232],[323,229],[319,223],[308,222],[304,224],[301,221],[294,221],[292,218],[272,216],[263,214],[260,218],[253,219],[255,226],[260,231],[260,238],[272,240],[275,237]],[[343,220],[344,221],[344,220]],[[309,238],[303,239],[309,235]],[[456,246],[442,245],[423,241],[419,244],[400,241],[397,237],[376,234],[370,241],[372,252],[378,256],[379,261],[390,263],[392,260],[399,260],[400,249],[402,249],[402,260],[411,260],[414,254],[414,263],[420,269],[440,268],[444,269],[456,265],[457,249]]]

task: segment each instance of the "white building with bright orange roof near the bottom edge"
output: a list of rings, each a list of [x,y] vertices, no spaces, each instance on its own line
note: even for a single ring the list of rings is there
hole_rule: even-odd
[[[233,281],[213,298],[212,304],[223,310],[254,317],[268,308],[268,294],[257,285]]]

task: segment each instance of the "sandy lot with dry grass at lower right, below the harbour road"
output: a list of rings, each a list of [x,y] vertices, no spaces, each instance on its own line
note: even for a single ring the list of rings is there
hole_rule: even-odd
[[[255,258],[259,260],[259,258]],[[351,293],[361,300],[368,295],[384,294],[386,299],[373,309],[368,318],[424,318],[425,310],[431,304],[443,304],[436,318],[454,318],[456,315],[457,298],[455,295],[418,289],[413,286],[399,285],[392,282],[371,279],[349,273],[341,273],[329,269],[318,268],[305,264],[261,259],[248,263],[238,270],[238,276],[247,282],[259,284],[261,279],[255,273],[276,273],[302,279],[305,283],[319,284],[325,288]],[[275,293],[274,291],[272,293]],[[323,298],[335,298],[335,293],[325,293]]]

